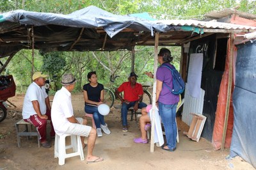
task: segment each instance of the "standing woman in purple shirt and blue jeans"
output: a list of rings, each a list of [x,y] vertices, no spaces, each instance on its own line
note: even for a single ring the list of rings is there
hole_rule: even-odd
[[[179,95],[173,95],[170,89],[173,89],[172,72],[163,65],[171,65],[173,60],[171,52],[168,49],[159,51],[157,60],[160,64],[156,72],[156,102],[159,107],[159,114],[164,125],[166,144],[161,146],[163,150],[174,151],[176,149],[176,107],[179,102]],[[168,86],[168,87],[167,87]]]

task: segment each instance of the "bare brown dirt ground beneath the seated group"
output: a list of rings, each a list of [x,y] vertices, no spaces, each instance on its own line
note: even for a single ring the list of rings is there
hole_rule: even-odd
[[[105,118],[111,134],[97,138],[93,150],[94,155],[104,158],[103,162],[86,164],[79,157],[72,157],[65,160],[65,165],[59,166],[58,158],[54,158],[54,139],[49,149],[38,148],[36,137],[30,140],[22,137],[21,147],[17,147],[15,122],[21,118],[23,97],[9,98],[17,107],[10,107],[6,120],[0,123],[0,169],[254,169],[240,157],[228,160],[229,150],[215,151],[212,144],[202,137],[198,143],[191,141],[183,135],[189,127],[180,118],[177,118],[180,137],[177,150],[168,152],[155,145],[151,153],[150,144],[132,141],[140,136],[136,121],[129,121],[129,132],[122,132],[118,109],[111,109]],[[82,93],[72,94],[72,104],[75,116],[83,116]],[[90,118],[88,120],[88,125],[92,125]],[[49,126],[47,130],[49,132]],[[85,156],[86,151],[85,148]]]

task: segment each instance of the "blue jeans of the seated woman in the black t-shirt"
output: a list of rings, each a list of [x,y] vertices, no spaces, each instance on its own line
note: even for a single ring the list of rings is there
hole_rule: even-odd
[[[85,105],[84,111],[89,114],[93,114],[93,120],[95,122],[96,128],[100,128],[101,125],[105,125],[104,116],[101,115],[98,111],[98,107],[91,106],[91,105]]]

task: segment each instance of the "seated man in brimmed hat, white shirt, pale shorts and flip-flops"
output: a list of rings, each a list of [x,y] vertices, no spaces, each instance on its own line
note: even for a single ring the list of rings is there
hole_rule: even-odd
[[[58,135],[72,134],[80,135],[83,148],[84,137],[88,137],[88,150],[86,161],[88,163],[101,162],[103,158],[92,155],[97,133],[95,128],[86,125],[83,118],[75,118],[71,102],[71,92],[76,86],[76,79],[71,73],[66,73],[62,77],[63,87],[56,92],[52,102],[52,123]]]

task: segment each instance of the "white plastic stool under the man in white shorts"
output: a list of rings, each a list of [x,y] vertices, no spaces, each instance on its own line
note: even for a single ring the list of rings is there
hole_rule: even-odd
[[[66,137],[70,136],[71,144],[66,146]],[[73,148],[73,153],[66,153],[66,150]],[[83,146],[79,135],[55,134],[54,143],[54,158],[59,158],[59,165],[65,164],[65,158],[80,156],[81,160],[84,160]]]

